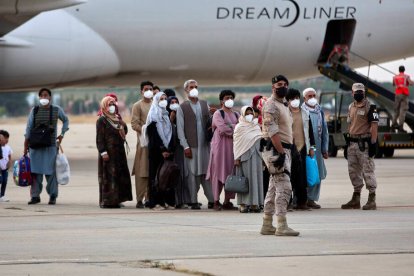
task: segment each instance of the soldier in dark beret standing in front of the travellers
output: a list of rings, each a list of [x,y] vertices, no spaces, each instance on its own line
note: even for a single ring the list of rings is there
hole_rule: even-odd
[[[269,189],[264,202],[262,235],[298,236],[299,232],[288,227],[286,222],[287,206],[292,187],[290,184],[291,152],[293,143],[293,119],[285,105],[285,96],[289,82],[278,75],[272,79],[272,97],[263,107],[263,137],[266,148],[275,153],[272,162],[267,162],[270,176]],[[270,164],[270,165],[269,165]],[[272,166],[274,166],[272,168]],[[273,215],[277,216],[277,227],[273,227]]]

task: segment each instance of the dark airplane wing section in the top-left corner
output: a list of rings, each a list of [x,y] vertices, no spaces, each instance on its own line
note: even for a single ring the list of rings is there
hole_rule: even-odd
[[[2,0],[0,2],[0,37],[41,12],[62,9],[85,2],[87,0]]]

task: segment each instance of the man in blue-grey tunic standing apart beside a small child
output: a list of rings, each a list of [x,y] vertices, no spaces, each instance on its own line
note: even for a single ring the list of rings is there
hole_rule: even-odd
[[[40,193],[43,189],[43,175],[46,177],[47,186],[46,191],[49,194],[49,205],[56,204],[58,197],[58,183],[55,173],[55,161],[57,155],[57,143],[61,143],[66,131],[69,130],[69,119],[63,109],[57,105],[50,103],[52,92],[47,88],[42,88],[39,91],[40,105],[33,108],[27,120],[24,154],[26,155],[30,148],[31,172],[33,184],[30,189],[31,200],[28,204],[37,204],[40,202]],[[62,130],[57,136],[58,128],[57,121],[63,122]],[[50,137],[45,137],[48,140],[47,144],[36,144],[34,139],[34,129],[45,126],[51,129]],[[42,139],[43,140],[43,139]],[[45,142],[45,141],[43,141]]]

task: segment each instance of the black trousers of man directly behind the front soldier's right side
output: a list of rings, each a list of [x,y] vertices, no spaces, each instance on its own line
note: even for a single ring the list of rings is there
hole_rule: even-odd
[[[293,197],[296,199],[296,204],[305,204],[308,198],[307,195],[307,180],[306,180],[306,146],[303,146],[298,152],[296,147],[292,150],[292,168],[290,183],[292,184]]]

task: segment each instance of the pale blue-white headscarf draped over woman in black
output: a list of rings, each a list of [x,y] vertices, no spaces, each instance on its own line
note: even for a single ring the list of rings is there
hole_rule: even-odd
[[[162,91],[155,94],[145,124],[149,126],[152,122],[156,122],[158,135],[160,136],[164,147],[168,148],[172,136],[172,126],[167,109],[161,108],[158,105],[162,95],[165,95]]]

